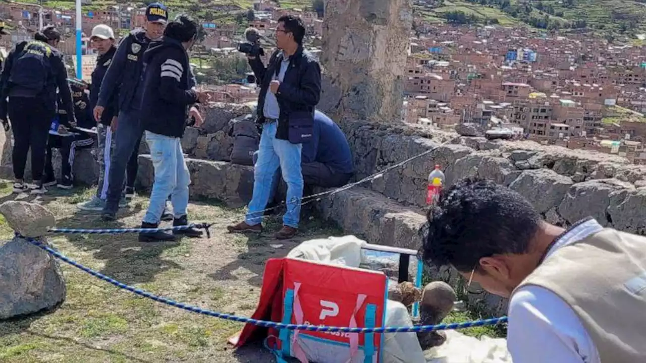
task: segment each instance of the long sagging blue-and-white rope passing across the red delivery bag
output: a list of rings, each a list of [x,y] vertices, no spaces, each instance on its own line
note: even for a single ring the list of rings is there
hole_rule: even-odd
[[[196,306],[191,306],[187,304],[182,304],[181,302],[176,302],[174,300],[171,300],[169,298],[165,298],[162,296],[157,296],[152,293],[149,293],[147,291],[138,289],[136,287],[130,286],[123,284],[122,282],[118,282],[117,280],[114,280],[114,278],[110,278],[109,276],[105,276],[102,273],[99,273],[98,271],[94,271],[93,269],[90,269],[89,267],[85,267],[84,265],[79,264],[78,262],[75,262],[74,260],[68,258],[67,256],[57,252],[56,250],[48,247],[47,245],[43,244],[42,242],[39,242],[37,240],[34,240],[33,238],[26,238],[23,236],[20,236],[19,234],[16,234],[16,236],[19,236],[21,238],[25,238],[28,240],[30,243],[36,245],[40,249],[43,249],[47,253],[51,254],[52,256],[58,258],[59,260],[66,262],[67,264],[70,264],[81,271],[85,271],[86,273],[89,273],[90,275],[99,278],[105,282],[109,282],[112,285],[115,285],[116,287],[119,287],[120,289],[124,289],[127,291],[130,291],[131,293],[134,293],[139,296],[143,296],[145,298],[149,298],[151,300],[154,300],[156,302],[161,302],[162,304],[166,304],[169,306],[173,307],[178,307],[179,309],[183,309],[186,311],[191,311],[192,313],[198,313],[201,315],[207,315],[207,316],[213,316],[215,318],[220,318],[220,319],[225,319],[225,320],[232,320],[234,322],[241,322],[241,323],[246,323],[246,324],[253,324],[255,326],[262,326],[262,327],[273,327],[275,329],[288,329],[288,330],[304,330],[304,331],[327,331],[327,332],[343,332],[343,333],[410,333],[410,332],[427,332],[427,331],[438,331],[438,330],[446,330],[446,329],[464,329],[466,327],[476,327],[476,326],[490,326],[490,325],[497,325],[497,324],[502,324],[507,322],[507,317],[503,316],[501,318],[491,318],[491,319],[483,319],[483,320],[475,320],[472,322],[461,322],[461,323],[452,323],[452,324],[438,324],[438,325],[426,325],[426,326],[399,326],[399,327],[337,327],[337,326],[312,326],[312,325],[306,325],[306,324],[282,324],[278,322],[269,322],[266,320],[257,320],[257,319],[252,319],[252,318],[246,318],[244,316],[236,316],[236,315],[230,315],[230,314],[224,314],[224,313],[217,313],[216,311],[211,311],[207,309],[202,309],[200,307]]]

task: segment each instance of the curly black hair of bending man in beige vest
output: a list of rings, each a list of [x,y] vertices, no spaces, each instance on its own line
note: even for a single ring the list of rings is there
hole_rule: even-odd
[[[526,253],[542,218],[508,187],[466,178],[441,192],[427,220],[420,250],[424,263],[469,273],[480,258]]]

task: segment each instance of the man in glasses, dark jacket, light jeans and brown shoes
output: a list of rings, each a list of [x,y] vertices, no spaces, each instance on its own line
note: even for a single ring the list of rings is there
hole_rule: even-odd
[[[300,18],[283,16],[276,27],[278,50],[267,68],[258,57],[248,56],[260,85],[258,123],[262,136],[255,164],[253,198],[244,222],[227,227],[229,232],[260,232],[271,189],[280,167],[287,184],[287,212],[283,227],[275,234],[288,239],[297,233],[303,176],[300,169],[302,144],[311,141],[314,109],[320,99],[321,74],[317,59],[303,49],[305,26]],[[269,92],[267,92],[269,91]]]

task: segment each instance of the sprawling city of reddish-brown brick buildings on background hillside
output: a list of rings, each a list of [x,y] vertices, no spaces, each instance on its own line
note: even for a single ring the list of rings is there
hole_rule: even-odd
[[[598,150],[646,164],[646,35],[640,33],[646,3],[627,6],[612,0],[607,3],[616,6],[605,12],[594,0],[413,3],[404,122]],[[83,34],[103,23],[123,36],[145,22],[145,3],[83,4]],[[298,14],[307,25],[306,47],[320,52],[321,0],[200,4],[205,5],[167,3],[171,12],[186,12],[202,24],[191,65],[201,87],[214,91],[215,101],[258,98],[255,84],[247,81],[244,54],[236,51],[248,26],[271,39],[276,19]],[[11,32],[0,46],[6,52],[30,39],[42,17],[69,39],[61,51],[74,68],[75,14],[73,1],[0,3],[0,16]],[[89,78],[96,56],[88,37],[82,47],[83,77]]]

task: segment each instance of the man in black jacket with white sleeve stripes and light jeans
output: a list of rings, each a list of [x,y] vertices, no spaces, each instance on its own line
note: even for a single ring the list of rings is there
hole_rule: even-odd
[[[151,149],[154,184],[151,203],[141,228],[157,228],[166,200],[171,195],[173,225],[187,225],[189,202],[189,170],[184,161],[180,140],[193,103],[209,99],[207,92],[194,90],[194,81],[187,50],[198,34],[197,23],[188,16],[179,16],[169,23],[160,41],[154,41],[144,54],[143,98],[141,124]],[[196,119],[196,127],[200,127]],[[173,234],[158,231],[140,233],[141,242],[174,240],[174,234],[202,236],[202,231],[184,229]]]

